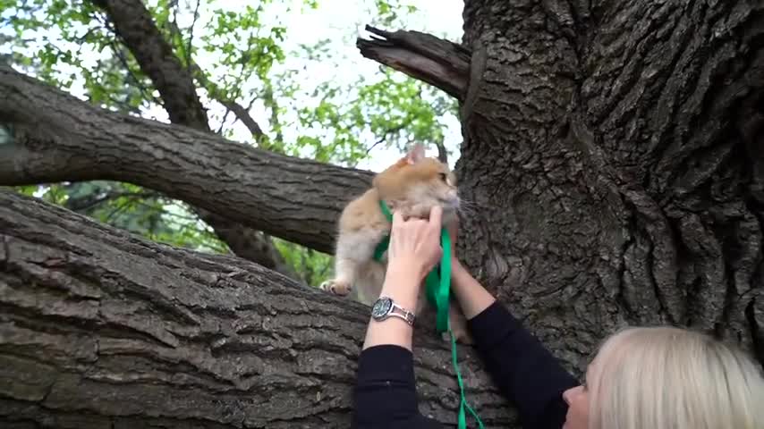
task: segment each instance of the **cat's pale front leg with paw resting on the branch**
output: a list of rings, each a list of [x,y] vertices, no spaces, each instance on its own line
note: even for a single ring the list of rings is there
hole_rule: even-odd
[[[385,231],[370,228],[340,234],[335,251],[335,277],[321,283],[320,288],[335,295],[349,294],[361,274],[366,274],[361,270],[371,261],[384,234]]]

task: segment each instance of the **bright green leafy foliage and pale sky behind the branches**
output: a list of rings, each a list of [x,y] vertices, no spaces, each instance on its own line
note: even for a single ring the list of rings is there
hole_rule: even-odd
[[[366,1],[376,16],[371,23],[379,26],[400,25],[396,23],[406,13],[416,10],[400,0]],[[226,138],[347,166],[368,159],[372,147],[403,150],[413,141],[444,143],[441,118],[454,114],[455,104],[420,81],[389,70],[372,79],[312,79],[310,67],[338,67],[343,61],[335,41],[318,39],[289,50],[292,29],[274,15],[318,8],[316,1],[295,0],[285,6],[269,0],[257,5],[222,0],[146,3],[157,28],[195,79],[209,109],[210,127]],[[157,91],[115,36],[106,14],[91,2],[0,0],[0,10],[0,38],[7,41],[0,55],[14,66],[95,105],[166,120]],[[252,141],[226,103],[244,106],[264,135]],[[9,136],[5,133],[0,140]],[[18,190],[151,240],[228,251],[184,203],[132,184],[91,181]],[[330,255],[274,241],[305,282],[315,285],[327,276]]]

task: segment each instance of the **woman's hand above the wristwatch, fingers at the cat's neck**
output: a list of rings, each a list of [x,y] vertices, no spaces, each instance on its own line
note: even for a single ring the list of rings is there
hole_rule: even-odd
[[[387,273],[407,273],[421,282],[443,256],[440,247],[443,209],[434,206],[427,219],[403,219],[393,214],[390,246],[387,250]]]

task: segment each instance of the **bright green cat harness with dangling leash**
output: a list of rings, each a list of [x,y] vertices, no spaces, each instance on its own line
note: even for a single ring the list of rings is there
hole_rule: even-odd
[[[380,199],[379,207],[382,209],[382,213],[385,214],[387,221],[393,222],[393,214],[390,213],[390,209],[387,208],[385,201]],[[389,245],[390,236],[388,235],[379,242],[377,248],[374,250],[374,259],[380,261]],[[480,417],[469,405],[467,405],[467,399],[464,395],[462,374],[459,372],[459,366],[456,363],[456,339],[454,338],[454,332],[451,331],[451,326],[448,321],[448,294],[451,290],[451,237],[449,237],[446,228],[443,228],[440,231],[440,246],[443,248],[443,257],[440,258],[439,267],[430,271],[425,279],[425,294],[427,295],[429,303],[435,306],[437,310],[437,332],[448,332],[451,336],[451,358],[454,362],[456,382],[459,384],[459,392],[462,397],[459,405],[458,427],[459,429],[467,428],[466,408],[466,410],[470,411],[470,414],[475,417],[475,420],[478,421],[478,425],[480,425],[480,428],[482,429],[483,422],[480,421]],[[438,268],[440,273],[438,273]]]

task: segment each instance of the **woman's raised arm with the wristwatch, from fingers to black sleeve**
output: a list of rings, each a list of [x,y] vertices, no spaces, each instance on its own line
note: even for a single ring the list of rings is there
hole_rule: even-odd
[[[412,313],[416,313],[422,279],[443,253],[438,241],[441,212],[440,206],[433,207],[427,221],[404,219],[400,211],[393,214],[380,295]],[[409,322],[397,316],[381,321],[370,317],[353,392],[352,427],[441,427],[422,416],[417,407],[411,351],[413,327]]]

